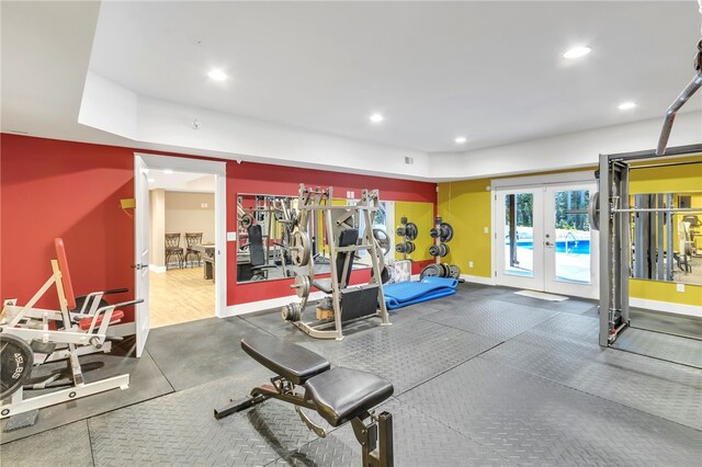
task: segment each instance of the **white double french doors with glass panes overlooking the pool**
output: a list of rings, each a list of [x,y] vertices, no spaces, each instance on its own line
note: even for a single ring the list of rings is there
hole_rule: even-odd
[[[587,206],[595,183],[495,191],[498,285],[597,298],[598,237]]]

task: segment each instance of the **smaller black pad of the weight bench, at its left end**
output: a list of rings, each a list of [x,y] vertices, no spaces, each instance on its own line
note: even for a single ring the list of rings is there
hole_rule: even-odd
[[[321,355],[268,335],[244,338],[241,349],[271,372],[296,385],[304,385],[308,378],[331,367]]]

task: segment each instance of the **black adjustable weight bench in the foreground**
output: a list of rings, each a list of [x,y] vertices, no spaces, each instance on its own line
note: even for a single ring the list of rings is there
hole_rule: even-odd
[[[315,410],[331,426],[351,422],[355,438],[361,444],[363,466],[393,465],[393,415],[375,415],[371,409],[393,395],[393,385],[372,373],[335,367],[321,355],[297,344],[281,342],[267,335],[241,340],[241,349],[253,360],[278,376],[271,385],[251,389],[242,401],[230,401],[215,409],[215,419],[248,409],[267,399],[279,399],[295,406],[295,411],[317,436],[325,430],[315,424],[301,408]],[[304,386],[304,394],[295,386]],[[364,420],[370,419],[370,423]]]

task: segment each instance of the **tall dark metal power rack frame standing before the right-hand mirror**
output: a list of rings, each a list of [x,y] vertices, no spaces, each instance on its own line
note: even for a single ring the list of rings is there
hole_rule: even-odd
[[[656,150],[626,152],[618,155],[600,155],[599,194],[591,197],[590,224],[600,231],[600,345],[610,346],[619,334],[630,326],[629,316],[629,278],[631,269],[631,213],[661,212],[669,216],[672,213],[702,212],[702,208],[675,208],[630,206],[629,175],[639,162],[655,159],[655,167],[677,166],[676,158],[702,153],[702,145],[669,148],[665,156],[657,156]],[[671,221],[667,223],[668,226]],[[660,223],[663,226],[663,224]],[[639,229],[641,230],[641,229]],[[638,231],[638,230],[637,230]],[[663,239],[663,232],[658,236]],[[671,241],[668,235],[668,242]],[[643,239],[639,239],[643,241]],[[663,263],[663,240],[657,251],[657,261]],[[641,249],[641,248],[639,248]],[[672,252],[672,247],[667,247]],[[639,254],[639,253],[636,253]],[[668,257],[668,266],[672,254]]]

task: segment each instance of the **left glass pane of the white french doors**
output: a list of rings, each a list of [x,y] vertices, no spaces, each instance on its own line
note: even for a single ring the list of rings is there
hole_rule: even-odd
[[[534,195],[508,193],[505,206],[505,274],[534,276]]]

